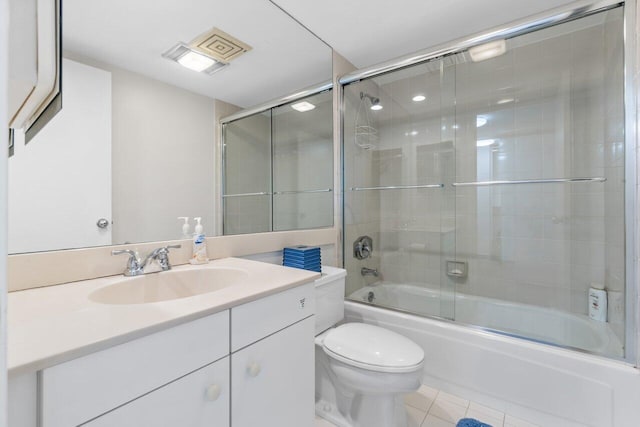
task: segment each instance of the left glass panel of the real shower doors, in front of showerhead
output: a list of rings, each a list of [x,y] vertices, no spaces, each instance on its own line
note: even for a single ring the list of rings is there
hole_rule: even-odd
[[[455,67],[416,65],[344,88],[348,297],[454,318]],[[359,250],[371,238],[370,250]]]

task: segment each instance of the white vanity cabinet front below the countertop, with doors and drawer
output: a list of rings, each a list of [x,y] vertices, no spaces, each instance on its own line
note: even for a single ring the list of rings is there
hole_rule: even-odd
[[[307,283],[18,376],[12,427],[312,427],[314,311]]]

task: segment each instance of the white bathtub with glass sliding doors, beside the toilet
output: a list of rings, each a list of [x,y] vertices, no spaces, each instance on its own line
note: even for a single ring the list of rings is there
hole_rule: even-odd
[[[633,366],[458,322],[379,308],[364,303],[369,292],[374,293],[376,304],[397,307],[401,303],[428,316],[438,314],[440,294],[418,286],[380,284],[359,290],[345,301],[345,321],[385,327],[423,348],[423,382],[428,386],[544,427],[638,426],[640,374]],[[536,335],[544,342],[565,339],[563,334],[572,329],[571,335],[581,340],[572,342],[576,347],[619,346],[606,325],[584,316],[488,298],[455,298],[456,312],[465,323],[483,322],[513,335]]]

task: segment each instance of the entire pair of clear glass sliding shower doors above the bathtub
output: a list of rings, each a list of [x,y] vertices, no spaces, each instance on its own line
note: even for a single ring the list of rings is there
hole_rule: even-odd
[[[346,84],[347,297],[625,357],[623,24],[612,7]]]

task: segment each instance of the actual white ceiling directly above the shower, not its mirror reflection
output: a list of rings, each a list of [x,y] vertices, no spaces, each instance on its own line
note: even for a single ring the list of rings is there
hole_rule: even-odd
[[[568,0],[272,0],[357,68],[477,33]]]

